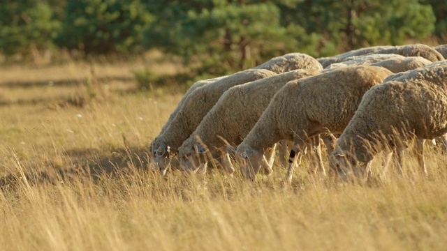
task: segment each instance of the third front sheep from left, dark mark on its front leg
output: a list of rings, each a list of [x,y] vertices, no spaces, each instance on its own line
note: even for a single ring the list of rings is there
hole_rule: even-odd
[[[237,146],[236,159],[242,176],[256,179],[262,150],[280,139],[288,139],[294,144],[286,174],[286,180],[291,182],[296,153],[301,157],[307,139],[325,132],[341,133],[363,93],[391,74],[376,66],[346,66],[288,82]]]

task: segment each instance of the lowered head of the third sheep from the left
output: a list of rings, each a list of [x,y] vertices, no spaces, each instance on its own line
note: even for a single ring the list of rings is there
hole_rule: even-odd
[[[269,165],[262,151],[257,151],[244,142],[237,146],[236,160],[242,176],[251,181],[256,181],[259,169],[268,169]]]

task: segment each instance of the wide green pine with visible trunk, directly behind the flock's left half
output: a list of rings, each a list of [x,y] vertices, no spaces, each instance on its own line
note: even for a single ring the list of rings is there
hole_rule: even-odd
[[[286,28],[272,3],[205,1],[203,8],[191,8],[174,2],[163,10],[146,31],[145,46],[183,56],[186,63],[198,59],[198,74],[225,75],[286,52]]]

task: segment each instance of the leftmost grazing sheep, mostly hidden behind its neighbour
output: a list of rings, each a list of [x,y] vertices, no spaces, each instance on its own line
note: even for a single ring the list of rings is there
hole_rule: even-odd
[[[178,147],[191,135],[203,117],[230,87],[264,77],[276,75],[270,70],[244,70],[212,84],[206,84],[186,96],[184,104],[169,123],[166,130],[154,139],[149,149],[152,159],[162,174],[166,173],[170,158],[177,154]]]

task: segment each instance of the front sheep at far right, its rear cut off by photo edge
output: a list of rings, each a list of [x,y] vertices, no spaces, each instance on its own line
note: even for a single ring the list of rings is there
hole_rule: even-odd
[[[356,114],[330,154],[330,167],[342,178],[362,176],[376,153],[402,151],[416,139],[433,139],[447,132],[447,62],[433,63],[390,78],[365,93]],[[416,141],[423,162],[423,140]],[[423,172],[427,170],[423,166]]]

